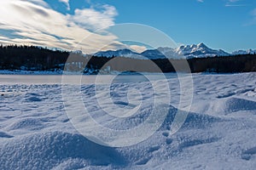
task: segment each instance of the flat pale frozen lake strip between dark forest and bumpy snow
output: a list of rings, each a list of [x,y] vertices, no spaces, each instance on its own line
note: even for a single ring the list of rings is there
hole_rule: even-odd
[[[0,75],[0,84],[61,84],[62,75]],[[105,83],[113,80],[113,83],[120,82],[147,82],[161,80],[165,78],[177,77],[177,74],[169,73],[165,76],[161,74],[148,74],[148,75],[65,75],[65,82],[70,84],[92,84],[96,82]]]

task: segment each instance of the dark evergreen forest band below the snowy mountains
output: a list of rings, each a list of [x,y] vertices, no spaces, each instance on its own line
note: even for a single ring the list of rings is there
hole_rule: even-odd
[[[189,66],[189,67],[188,67]],[[189,70],[188,70],[189,68]],[[217,72],[256,71],[256,54],[215,56],[194,59],[131,59],[84,56],[36,46],[0,46],[0,70],[24,71],[148,71],[148,72]]]

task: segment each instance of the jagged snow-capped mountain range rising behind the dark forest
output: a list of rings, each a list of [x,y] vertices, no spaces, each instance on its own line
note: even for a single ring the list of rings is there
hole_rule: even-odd
[[[131,49],[119,49],[119,50],[108,50],[100,51],[93,54],[98,57],[127,57],[132,59],[193,59],[193,58],[206,58],[215,56],[230,56],[237,54],[255,54],[256,50],[238,50],[232,54],[225,52],[222,49],[208,48],[204,43],[197,45],[182,45],[178,48],[156,48],[147,49],[142,53],[136,53]]]

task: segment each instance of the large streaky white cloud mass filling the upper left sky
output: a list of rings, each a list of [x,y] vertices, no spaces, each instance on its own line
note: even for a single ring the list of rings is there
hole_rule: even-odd
[[[86,53],[93,53],[99,47],[125,47],[107,31],[94,33],[97,29],[113,26],[117,14],[116,8],[110,5],[76,9],[74,14],[61,14],[49,8],[43,0],[0,1],[0,43],[70,50],[84,37],[88,37],[79,45]]]

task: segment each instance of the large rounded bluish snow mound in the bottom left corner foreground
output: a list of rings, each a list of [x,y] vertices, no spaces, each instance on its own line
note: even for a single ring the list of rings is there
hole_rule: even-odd
[[[95,144],[80,134],[61,132],[33,133],[20,139],[3,141],[0,144],[0,157],[0,169],[125,164],[122,156],[113,148]]]

